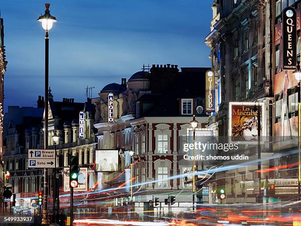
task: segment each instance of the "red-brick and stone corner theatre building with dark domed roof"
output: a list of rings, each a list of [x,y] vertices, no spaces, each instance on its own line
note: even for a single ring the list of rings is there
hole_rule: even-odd
[[[185,153],[181,145],[182,137],[186,139],[192,129],[193,114],[199,122],[198,131],[217,135],[215,124],[208,127],[210,113],[205,112],[208,69],[181,67],[179,71],[178,65],[152,65],[150,72],[136,72],[127,82],[122,79],[121,85],[105,86],[99,98],[92,100],[98,116],[95,115],[97,123],[94,124],[98,150],[103,155],[106,150],[107,153],[118,150],[120,159],[118,171],[112,172],[113,167],[101,170],[97,164],[106,164],[97,159],[96,153],[96,168],[100,170],[98,183],[102,182],[98,185],[117,187],[125,182],[123,199],[129,197],[132,168],[132,196],[137,213],[149,210],[149,201],[157,197],[160,205],[154,215],[166,216],[168,205],[164,199],[168,194],[179,194],[172,205],[173,214],[192,208],[192,183],[186,183],[187,178],[182,176],[191,172],[192,161],[183,159]],[[113,123],[108,123],[107,114],[110,93],[114,95]],[[199,170],[207,167],[201,161],[196,165]],[[112,201],[119,205],[118,201]],[[197,197],[195,205],[196,202]]]

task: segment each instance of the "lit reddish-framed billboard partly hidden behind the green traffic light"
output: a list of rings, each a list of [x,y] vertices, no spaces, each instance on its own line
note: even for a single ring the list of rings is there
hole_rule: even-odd
[[[64,168],[64,192],[70,191],[69,186],[69,167]],[[74,188],[74,192],[88,191],[88,168],[80,168],[78,173],[78,186]]]

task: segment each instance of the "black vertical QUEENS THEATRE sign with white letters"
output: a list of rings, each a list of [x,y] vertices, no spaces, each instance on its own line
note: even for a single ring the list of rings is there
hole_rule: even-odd
[[[297,56],[297,13],[293,7],[283,9],[283,70],[296,69]]]

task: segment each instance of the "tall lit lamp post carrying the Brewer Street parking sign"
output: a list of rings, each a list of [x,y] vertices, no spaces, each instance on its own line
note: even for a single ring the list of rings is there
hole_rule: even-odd
[[[57,19],[50,15],[50,4],[45,4],[45,14],[39,16],[37,21],[42,23],[45,30],[45,110],[44,110],[44,149],[48,149],[48,72],[49,72],[49,30],[52,28]],[[48,211],[47,211],[47,178],[48,169],[44,168],[44,205],[43,205],[43,219],[42,225],[48,225]]]

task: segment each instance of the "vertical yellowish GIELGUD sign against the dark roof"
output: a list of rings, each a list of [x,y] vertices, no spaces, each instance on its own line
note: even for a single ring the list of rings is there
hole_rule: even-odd
[[[206,112],[214,112],[214,71],[206,71]]]

